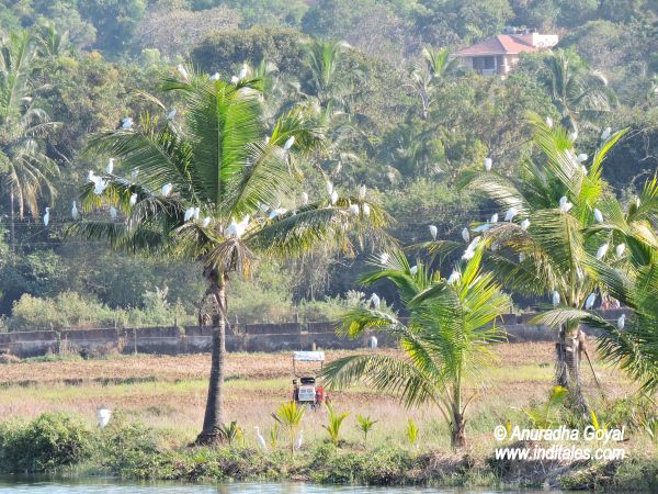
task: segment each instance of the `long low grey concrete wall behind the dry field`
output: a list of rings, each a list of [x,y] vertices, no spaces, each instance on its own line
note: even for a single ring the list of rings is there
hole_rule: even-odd
[[[624,311],[608,311],[604,316],[616,321]],[[508,340],[553,341],[555,329],[533,325],[534,314],[506,314],[501,327],[508,333]],[[588,334],[595,332],[587,329]],[[396,340],[385,333],[368,333],[350,340],[336,335],[334,323],[285,323],[254,324],[236,328],[227,334],[228,351],[292,351],[318,349],[362,348],[375,335],[381,347],[395,346]],[[80,352],[82,355],[157,353],[179,355],[211,351],[213,332],[211,328],[190,326],[146,327],[139,329],[84,329],[84,330],[34,330],[0,333],[0,353],[16,357],[35,357],[57,352]]]

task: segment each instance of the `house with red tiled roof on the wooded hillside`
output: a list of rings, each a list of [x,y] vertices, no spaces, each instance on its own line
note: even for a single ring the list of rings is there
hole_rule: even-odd
[[[538,34],[532,30],[508,30],[454,54],[462,67],[478,74],[507,76],[522,53],[538,52],[557,45],[557,34]]]

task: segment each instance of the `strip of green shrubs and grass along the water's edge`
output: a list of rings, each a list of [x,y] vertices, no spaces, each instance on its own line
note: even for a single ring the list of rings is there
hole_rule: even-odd
[[[171,447],[162,433],[115,417],[89,429],[75,417],[44,414],[0,424],[0,473],[114,475],[180,481],[308,481],[370,485],[503,485],[656,492],[658,461],[578,462],[559,469],[490,458],[417,452],[399,446],[310,445],[291,456],[284,445],[246,447],[240,436],[215,448]]]

